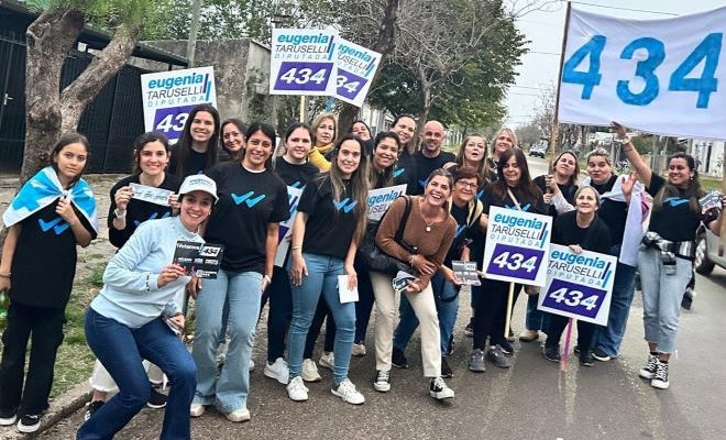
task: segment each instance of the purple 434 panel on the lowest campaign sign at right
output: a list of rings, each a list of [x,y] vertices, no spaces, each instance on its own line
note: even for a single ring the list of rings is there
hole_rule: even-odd
[[[606,294],[602,289],[552,279],[550,288],[542,299],[542,306],[595,319]]]

